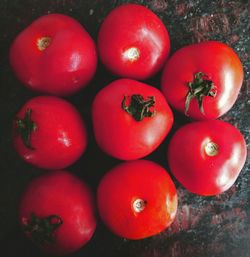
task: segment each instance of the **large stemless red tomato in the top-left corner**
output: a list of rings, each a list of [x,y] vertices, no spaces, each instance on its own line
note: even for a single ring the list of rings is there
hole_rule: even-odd
[[[73,18],[49,14],[35,20],[14,40],[10,63],[28,88],[66,96],[79,91],[94,76],[95,43]]]

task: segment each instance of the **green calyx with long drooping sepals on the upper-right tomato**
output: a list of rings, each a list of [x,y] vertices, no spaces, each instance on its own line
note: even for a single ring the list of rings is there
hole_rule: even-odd
[[[217,89],[214,86],[214,82],[208,79],[208,76],[203,72],[198,72],[194,75],[194,80],[188,82],[189,92],[186,96],[185,101],[185,115],[188,116],[187,112],[189,109],[190,102],[193,98],[196,98],[199,104],[199,109],[204,114],[203,109],[203,97],[210,96],[215,97]]]

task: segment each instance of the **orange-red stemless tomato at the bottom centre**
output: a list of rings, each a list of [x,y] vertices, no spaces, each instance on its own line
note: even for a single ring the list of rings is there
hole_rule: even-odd
[[[170,176],[160,165],[146,160],[125,162],[109,171],[98,186],[97,202],[107,227],[128,239],[160,233],[177,211]]]

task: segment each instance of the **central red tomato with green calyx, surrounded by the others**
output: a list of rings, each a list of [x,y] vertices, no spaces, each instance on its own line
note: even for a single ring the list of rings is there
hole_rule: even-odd
[[[173,124],[172,111],[162,93],[131,79],[113,81],[99,91],[92,119],[100,148],[122,160],[150,154]]]

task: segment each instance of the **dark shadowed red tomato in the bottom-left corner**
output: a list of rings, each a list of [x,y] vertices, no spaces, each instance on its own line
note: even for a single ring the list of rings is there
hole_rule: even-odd
[[[46,173],[22,195],[19,220],[25,234],[50,254],[64,255],[85,245],[96,228],[88,186],[66,171]]]

